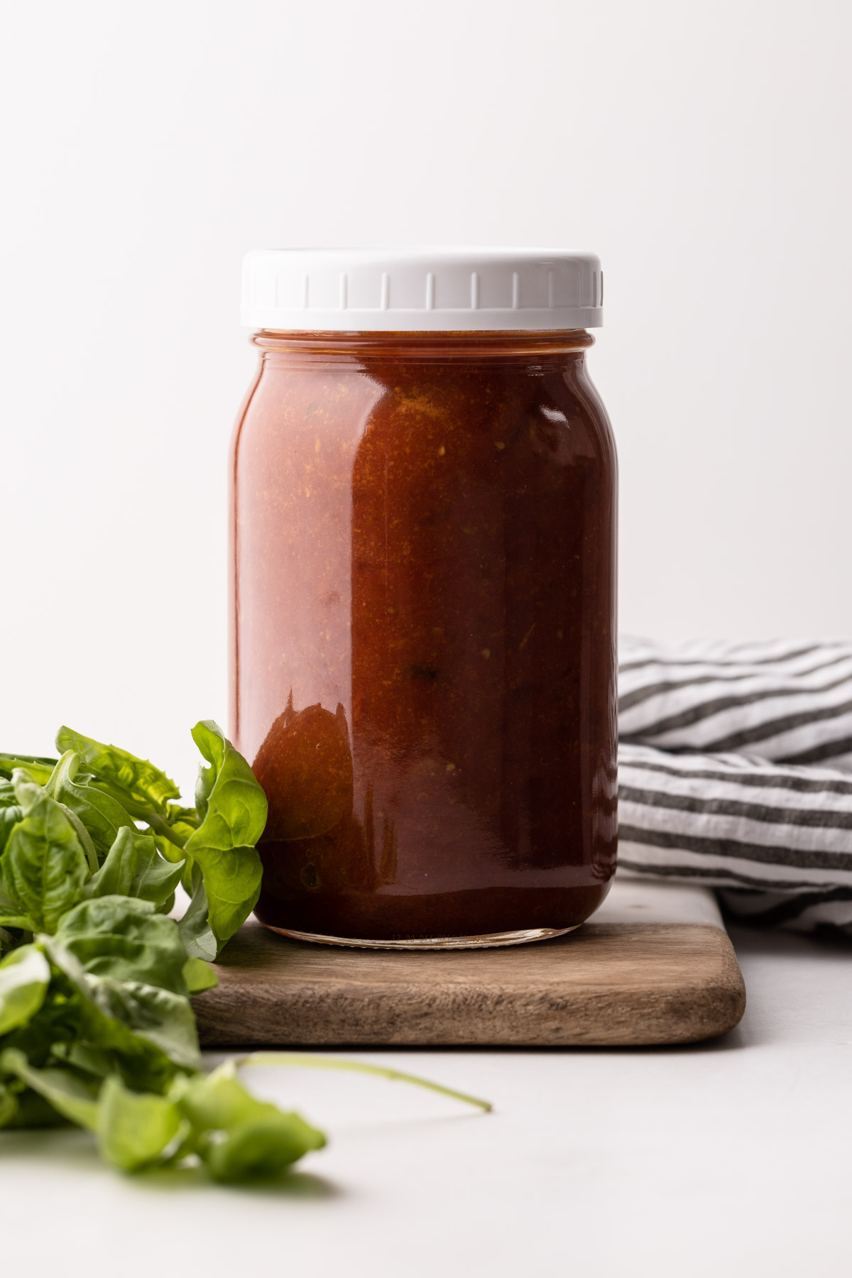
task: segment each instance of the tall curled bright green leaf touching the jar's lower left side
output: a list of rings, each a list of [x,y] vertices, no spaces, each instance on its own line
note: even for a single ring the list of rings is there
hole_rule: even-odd
[[[201,868],[209,929],[217,950],[245,921],[261,893],[261,858],[267,801],[254,773],[212,720],[193,728],[193,740],[211,764],[201,767],[195,808],[201,826],[185,851]]]

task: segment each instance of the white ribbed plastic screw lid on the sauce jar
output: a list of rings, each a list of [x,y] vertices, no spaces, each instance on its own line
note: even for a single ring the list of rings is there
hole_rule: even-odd
[[[243,265],[252,328],[598,328],[602,303],[599,258],[563,249],[259,249]]]

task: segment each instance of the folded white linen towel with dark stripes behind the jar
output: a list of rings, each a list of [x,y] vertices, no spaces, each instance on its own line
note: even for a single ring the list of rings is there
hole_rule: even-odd
[[[622,636],[618,863],[852,935],[852,643]]]

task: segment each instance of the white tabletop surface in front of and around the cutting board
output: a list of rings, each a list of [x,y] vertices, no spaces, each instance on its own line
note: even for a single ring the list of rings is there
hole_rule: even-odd
[[[331,1135],[286,1189],[130,1180],[82,1132],[0,1135],[0,1263],[36,1278],[849,1273],[852,944],[734,942],[749,1008],[704,1047],[349,1053],[485,1095],[491,1116],[253,1071]]]

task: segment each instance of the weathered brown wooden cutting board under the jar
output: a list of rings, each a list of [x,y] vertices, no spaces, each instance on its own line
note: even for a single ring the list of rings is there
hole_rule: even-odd
[[[713,895],[618,878],[565,937],[503,950],[350,950],[254,919],[193,999],[202,1045],[609,1047],[724,1034],[746,1003]]]

